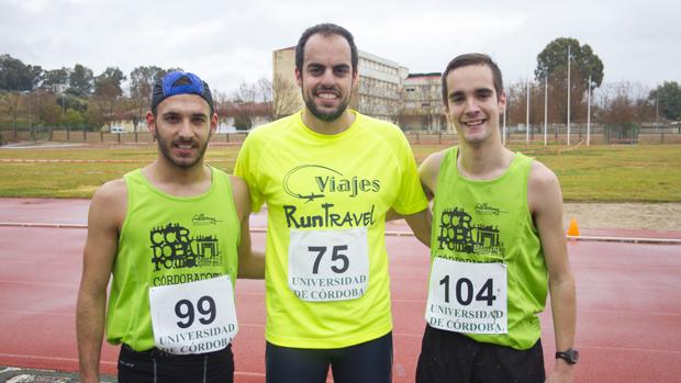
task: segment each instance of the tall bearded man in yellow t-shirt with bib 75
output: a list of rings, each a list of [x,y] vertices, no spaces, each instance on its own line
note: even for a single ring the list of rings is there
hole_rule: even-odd
[[[267,382],[389,382],[392,318],[386,213],[424,244],[429,215],[402,132],[347,105],[357,86],[353,35],[306,30],[295,48],[305,108],[246,138],[235,174],[254,211],[268,206]]]

